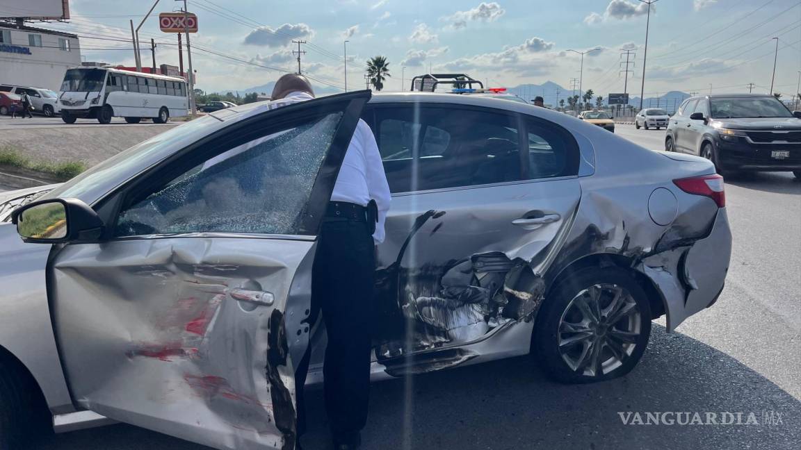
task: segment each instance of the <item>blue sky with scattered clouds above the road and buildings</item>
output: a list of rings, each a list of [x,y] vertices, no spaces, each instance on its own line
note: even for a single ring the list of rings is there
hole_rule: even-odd
[[[156,13],[183,2],[161,0],[140,39],[155,38],[158,63],[177,65],[176,37],[158,29]],[[87,60],[133,65],[130,25],[151,1],[73,0],[74,20],[58,24],[82,39]],[[295,70],[292,38],[308,41],[303,68],[318,83],[344,85],[343,41],[348,42],[348,87],[364,86],[364,62],[388,57],[388,90],[400,90],[401,72],[458,71],[515,86],[551,80],[570,87],[580,57],[569,49],[600,50],[584,58],[584,89],[622,92],[620,50],[634,50],[628,90],[639,94],[646,10],[638,0],[189,0],[198,15],[193,62],[199,87],[244,89]],[[88,37],[104,38],[90,39]],[[801,70],[798,0],[659,0],[650,17],[646,96],[667,90],[767,91],[779,36],[775,90],[795,91]],[[115,50],[109,50],[109,49]],[[144,50],[144,49],[143,49]],[[226,58],[229,57],[229,58]],[[236,58],[244,62],[236,62]],[[150,51],[143,51],[150,63]],[[185,62],[186,63],[186,62]],[[252,64],[259,66],[253,66]],[[406,66],[401,70],[401,66]]]

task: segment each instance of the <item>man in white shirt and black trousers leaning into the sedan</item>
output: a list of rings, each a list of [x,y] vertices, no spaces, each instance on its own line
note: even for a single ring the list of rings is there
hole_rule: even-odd
[[[286,74],[272,91],[276,106],[314,98],[302,75]],[[320,228],[312,271],[312,311],[322,311],[328,334],[324,396],[334,448],[359,448],[370,388],[372,291],[375,245],[384,240],[389,186],[376,138],[359,120],[337,175]],[[371,236],[372,235],[372,236]],[[305,431],[304,384],[309,353],[296,372],[297,436]]]

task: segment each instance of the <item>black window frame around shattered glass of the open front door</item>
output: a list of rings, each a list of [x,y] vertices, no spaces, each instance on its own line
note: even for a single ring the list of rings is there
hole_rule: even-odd
[[[359,113],[364,109],[364,104],[366,104],[370,98],[369,95],[366,99],[356,98],[356,94],[364,94],[364,91],[353,91],[349,94],[332,95],[316,99],[316,106],[324,110],[325,107],[328,107],[329,103],[339,100],[345,101],[343,96],[354,97],[348,100],[347,106],[344,108],[344,110],[342,110],[343,117],[340,120],[339,126],[334,132],[332,143],[328,149],[328,155],[326,155],[323,163],[320,164],[320,170],[318,171],[316,182],[312,185],[312,192],[309,195],[307,203],[307,206],[312,205],[315,207],[315,211],[308,210],[306,212],[306,216],[304,219],[302,219],[302,231],[307,230],[310,226],[316,227],[316,231],[319,231],[320,218],[323,215],[323,210],[325,207],[324,203],[320,203],[320,197],[330,197],[330,191],[333,190],[334,183],[336,182],[336,174],[339,171],[338,168],[336,171],[333,171],[332,164],[341,165],[341,162],[344,159],[345,151],[347,151],[348,145],[350,144],[350,139],[355,133],[356,124],[360,119]],[[159,163],[148,167],[144,171],[141,171],[138,175],[135,175],[131,177],[131,179],[121,183],[118,187],[115,187],[115,189],[109,191],[106,195],[103,195],[103,198],[98,199],[92,204],[92,208],[97,211],[100,219],[106,224],[106,226],[103,227],[103,232],[98,241],[115,242],[121,240],[159,238],[172,239],[176,237],[192,237],[198,235],[254,239],[316,239],[316,234],[270,235],[257,233],[223,233],[218,231],[191,232],[169,235],[114,235],[120,213],[123,211],[124,207],[130,206],[130,202],[136,198],[135,195],[137,193],[147,191],[152,186],[163,185],[164,183],[171,181],[171,179],[174,179],[176,173],[188,171],[191,169],[191,167],[195,167],[199,163],[213,158],[214,155],[221,155],[225,151],[236,147],[236,145],[251,142],[252,139],[248,139],[248,136],[250,135],[268,135],[269,133],[266,133],[264,130],[281,127],[285,123],[292,123],[298,118],[303,118],[308,115],[308,108],[308,102],[300,102],[288,106],[282,106],[280,108],[273,108],[260,114],[242,119],[237,123],[232,123],[229,127],[215,131],[211,135],[204,136],[194,143],[180,148]],[[336,110],[336,108],[331,107],[330,110]],[[343,127],[352,128],[350,134],[344,133]],[[343,134],[347,136],[343,137]],[[239,142],[239,144],[233,145],[233,143],[237,142]],[[215,154],[215,151],[218,149],[222,150],[219,150],[219,152]],[[321,186],[320,183],[322,183]],[[325,183],[330,183],[327,195],[325,194],[325,190],[327,188]],[[316,205],[316,203],[320,203],[320,205]],[[316,225],[314,225],[315,222]]]

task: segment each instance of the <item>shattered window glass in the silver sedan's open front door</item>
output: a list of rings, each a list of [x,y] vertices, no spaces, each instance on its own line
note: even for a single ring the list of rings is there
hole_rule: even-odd
[[[341,113],[234,147],[123,211],[115,235],[297,234]]]

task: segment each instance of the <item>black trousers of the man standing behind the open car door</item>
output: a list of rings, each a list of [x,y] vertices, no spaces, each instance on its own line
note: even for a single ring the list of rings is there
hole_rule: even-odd
[[[366,220],[323,219],[312,269],[310,326],[319,311],[328,333],[325,409],[335,444],[351,444],[367,422],[375,251]],[[304,383],[311,346],[296,379],[297,436],[306,429]]]

